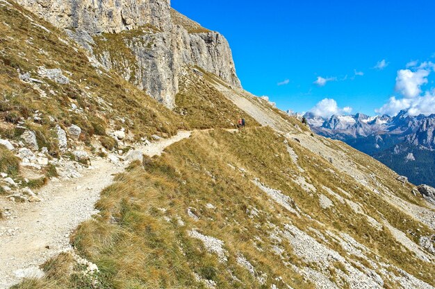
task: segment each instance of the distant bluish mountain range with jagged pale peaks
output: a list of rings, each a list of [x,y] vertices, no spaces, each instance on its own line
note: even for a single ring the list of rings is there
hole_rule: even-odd
[[[435,114],[396,116],[304,114],[311,129],[339,139],[405,175],[415,184],[435,186]]]

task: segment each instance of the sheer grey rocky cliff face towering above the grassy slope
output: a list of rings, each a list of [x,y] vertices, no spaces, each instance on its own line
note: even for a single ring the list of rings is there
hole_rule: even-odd
[[[185,67],[201,67],[241,86],[227,40],[172,10],[169,0],[17,2],[66,29],[103,67],[167,107],[174,107]]]

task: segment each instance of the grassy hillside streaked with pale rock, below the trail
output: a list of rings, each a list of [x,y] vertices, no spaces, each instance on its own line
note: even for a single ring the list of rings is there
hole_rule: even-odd
[[[72,237],[98,272],[71,271],[63,254],[17,288],[434,288],[434,211],[342,146],[271,128],[198,132],[101,193]]]

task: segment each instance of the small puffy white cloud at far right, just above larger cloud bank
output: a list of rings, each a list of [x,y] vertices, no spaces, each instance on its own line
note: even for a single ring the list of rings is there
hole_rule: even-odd
[[[418,69],[411,71],[410,69],[401,69],[397,71],[395,90],[400,92],[406,98],[414,98],[421,94],[421,86],[427,83],[429,71]]]

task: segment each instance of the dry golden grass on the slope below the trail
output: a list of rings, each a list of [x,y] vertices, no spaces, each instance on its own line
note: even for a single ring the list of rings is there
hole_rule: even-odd
[[[321,189],[325,185],[349,198],[340,193],[340,187],[370,216],[378,220],[386,218],[393,226],[408,232],[409,238],[413,238],[411,234],[416,234],[416,238],[431,234],[420,222],[357,186],[354,179],[334,173],[329,161],[297,142],[289,145],[299,155],[298,164],[305,170],[302,175],[319,193],[327,195]],[[397,243],[388,230],[378,231],[346,204],[334,201],[332,209],[322,209],[316,193],[310,195],[293,182],[298,174],[284,137],[270,128],[235,133],[195,132],[190,139],[167,148],[162,157],[147,159],[144,166],[136,162],[118,175],[115,183],[101,193],[97,204],[99,216],[83,223],[72,243],[99,266],[98,278],[108,288],[205,288],[195,281],[193,274],[213,280],[217,288],[270,288],[272,283],[280,287],[286,283],[293,288],[315,288],[284,261],[299,268],[318,265],[305,263],[288,241],[276,243],[270,238],[271,224],[284,230],[284,225],[292,223],[356,267],[358,261],[372,268],[365,259],[347,254],[337,240],[325,234],[326,230],[349,234],[372,249],[368,258],[375,261],[379,258],[433,284],[430,278],[435,270],[433,265],[420,261]],[[271,202],[252,183],[254,177],[293,198],[302,215],[297,217]],[[206,204],[213,204],[215,209],[208,209]],[[188,216],[188,208],[199,220]],[[258,216],[250,217],[253,208],[258,210]],[[201,241],[188,236],[188,231],[194,228],[224,242],[226,263],[220,263]],[[322,232],[326,240],[319,238],[313,229]],[[284,253],[281,256],[274,253],[273,245],[279,245]],[[254,265],[255,278],[238,265],[238,254]],[[345,268],[340,264],[331,266],[331,281],[341,282],[336,270],[345,272]],[[258,283],[262,274],[268,276],[265,285]],[[57,283],[58,286],[74,288],[71,284],[77,282],[74,281],[77,274],[72,276]],[[283,283],[276,281],[279,277]],[[390,281],[386,283],[390,288],[397,286]]]

